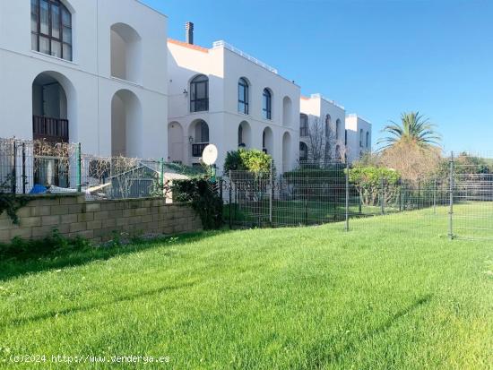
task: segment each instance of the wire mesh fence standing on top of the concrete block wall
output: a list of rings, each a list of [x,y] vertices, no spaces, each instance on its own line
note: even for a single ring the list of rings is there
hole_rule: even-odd
[[[88,199],[166,196],[167,182],[197,175],[163,159],[100,157],[80,144],[0,139],[0,191],[11,194],[83,192]]]

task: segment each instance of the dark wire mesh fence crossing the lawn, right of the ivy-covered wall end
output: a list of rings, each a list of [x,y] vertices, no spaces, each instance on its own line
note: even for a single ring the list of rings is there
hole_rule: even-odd
[[[391,227],[493,239],[493,174],[481,166],[451,157],[434,176],[414,181],[388,175],[355,181],[340,161],[305,163],[282,175],[230,171],[221,180],[224,217],[232,228],[341,222],[358,230],[366,224],[353,219],[379,216]]]

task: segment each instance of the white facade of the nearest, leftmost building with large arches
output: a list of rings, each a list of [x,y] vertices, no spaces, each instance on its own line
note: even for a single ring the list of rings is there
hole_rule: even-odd
[[[72,38],[64,45],[72,47],[71,60],[37,51],[30,1],[0,2],[0,137],[30,140],[33,120],[68,120],[67,141],[81,142],[85,153],[166,158],[166,16],[136,0],[49,4],[52,12],[65,6],[71,13]],[[46,27],[36,26],[37,16],[33,30]],[[60,32],[50,23],[50,37],[65,38],[63,22]],[[69,28],[66,35],[68,41]],[[55,39],[48,45],[59,53]]]

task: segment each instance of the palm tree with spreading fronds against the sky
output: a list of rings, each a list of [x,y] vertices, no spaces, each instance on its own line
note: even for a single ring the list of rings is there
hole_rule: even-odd
[[[414,143],[420,147],[439,145],[442,137],[435,131],[435,125],[429,119],[419,115],[419,112],[402,113],[401,124],[390,121],[382,130],[388,136],[380,139],[377,144],[384,144],[381,149],[394,146],[397,143]]]

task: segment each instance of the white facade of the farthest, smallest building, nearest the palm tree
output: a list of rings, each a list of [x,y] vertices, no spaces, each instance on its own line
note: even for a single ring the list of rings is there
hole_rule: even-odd
[[[365,152],[371,151],[371,124],[358,115],[346,116],[347,148],[350,162],[360,159]]]

